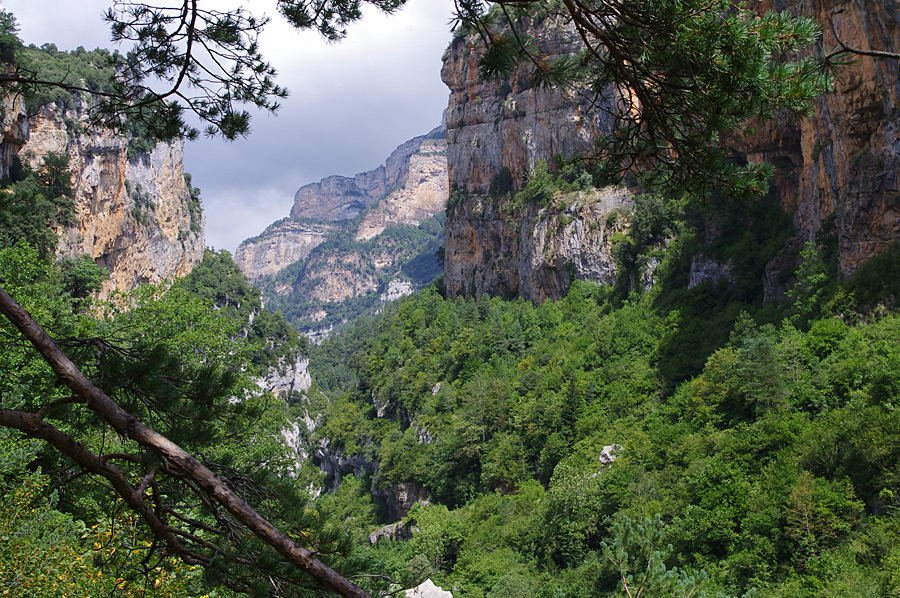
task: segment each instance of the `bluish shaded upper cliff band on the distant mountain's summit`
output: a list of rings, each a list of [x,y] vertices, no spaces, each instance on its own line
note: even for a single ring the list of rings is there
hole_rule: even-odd
[[[440,139],[438,128],[421,137],[410,139],[395,149],[384,164],[353,177],[330,176],[318,183],[301,187],[294,195],[291,218],[316,220],[349,220],[389,192],[406,184],[410,157],[419,153],[428,138]]]

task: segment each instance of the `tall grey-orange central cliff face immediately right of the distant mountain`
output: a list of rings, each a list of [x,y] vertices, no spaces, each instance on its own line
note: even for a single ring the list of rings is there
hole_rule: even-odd
[[[535,39],[539,53],[550,57],[580,47],[574,30],[549,19]],[[564,296],[576,278],[613,284],[611,233],[619,229],[610,215],[630,205],[628,191],[607,188],[512,211],[488,197],[504,169],[517,190],[538,161],[587,153],[591,139],[611,129],[609,117],[589,110],[581,95],[534,87],[526,67],[508,81],[481,80],[483,51],[477,36],[457,38],[441,71],[450,88],[450,182],[462,197],[444,227],[446,289],[452,296],[521,295],[539,302]]]

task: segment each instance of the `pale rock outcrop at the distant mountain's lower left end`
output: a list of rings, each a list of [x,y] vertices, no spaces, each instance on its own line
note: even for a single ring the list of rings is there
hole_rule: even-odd
[[[321,222],[285,219],[238,245],[234,261],[250,282],[281,272],[305,260],[335,227]]]

